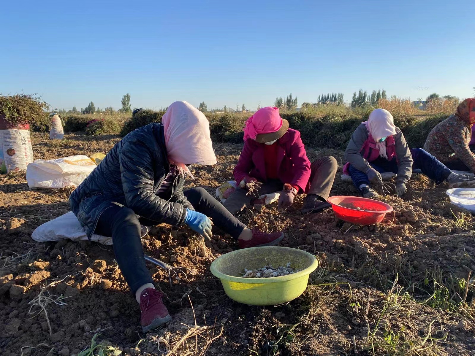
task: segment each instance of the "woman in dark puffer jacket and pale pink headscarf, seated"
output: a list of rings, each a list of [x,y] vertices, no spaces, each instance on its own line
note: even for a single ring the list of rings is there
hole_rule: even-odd
[[[240,248],[273,245],[284,237],[247,229],[203,188],[183,191],[190,164],[216,164],[209,122],[189,103],[175,102],[161,124],[143,126],[116,143],[69,198],[89,238],[112,237],[116,261],[140,303],[144,332],[171,317],[145,265],[141,224],[187,225],[210,239],[210,217]]]

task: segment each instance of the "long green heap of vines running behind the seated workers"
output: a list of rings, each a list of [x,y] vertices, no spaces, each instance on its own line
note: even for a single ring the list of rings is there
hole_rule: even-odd
[[[306,146],[344,150],[353,131],[361,122],[368,120],[373,110],[371,106],[351,109],[338,105],[318,105],[299,112],[281,110],[281,116],[292,129],[300,131]],[[161,122],[163,113],[152,110],[137,112],[125,123],[121,136],[151,122]],[[244,124],[250,115],[241,112],[207,113],[211,139],[216,142],[242,143]],[[394,123],[404,133],[409,147],[416,148],[424,147],[432,128],[447,117],[447,114],[417,116],[398,112],[394,115]]]

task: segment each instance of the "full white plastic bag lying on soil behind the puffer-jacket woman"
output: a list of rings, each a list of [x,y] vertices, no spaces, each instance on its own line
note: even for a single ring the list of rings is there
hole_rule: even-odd
[[[77,187],[96,167],[94,161],[87,156],[37,159],[27,167],[28,187]]]

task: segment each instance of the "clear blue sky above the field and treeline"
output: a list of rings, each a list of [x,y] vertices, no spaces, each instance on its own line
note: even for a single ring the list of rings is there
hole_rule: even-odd
[[[58,109],[472,96],[475,1],[3,1],[0,93]]]

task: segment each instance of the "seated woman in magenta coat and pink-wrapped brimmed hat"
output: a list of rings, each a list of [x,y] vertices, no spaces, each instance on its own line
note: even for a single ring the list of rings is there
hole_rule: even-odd
[[[278,208],[284,210],[294,202],[296,194],[306,193],[303,213],[316,213],[329,208],[330,195],[338,164],[325,156],[312,164],[307,158],[300,132],[289,129],[279,109],[265,107],[251,116],[244,128],[244,148],[239,156],[234,178],[237,188],[224,202],[232,213],[244,209],[263,194],[281,191]],[[260,189],[249,194],[247,183],[260,182]]]

